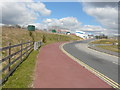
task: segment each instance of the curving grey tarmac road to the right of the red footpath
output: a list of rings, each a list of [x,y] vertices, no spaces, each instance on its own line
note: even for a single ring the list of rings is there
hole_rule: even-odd
[[[118,57],[89,49],[92,39],[76,41],[63,46],[64,50],[98,72],[118,83]]]

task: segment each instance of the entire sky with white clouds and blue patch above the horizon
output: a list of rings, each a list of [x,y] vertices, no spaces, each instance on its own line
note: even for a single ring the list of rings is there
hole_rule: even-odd
[[[94,34],[118,33],[117,2],[0,2],[0,23],[33,24],[39,29],[53,26],[69,29],[71,32],[85,31]]]

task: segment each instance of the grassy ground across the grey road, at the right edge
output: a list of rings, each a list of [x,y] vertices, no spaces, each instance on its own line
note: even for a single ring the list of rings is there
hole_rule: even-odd
[[[115,40],[115,39],[100,39],[100,40],[93,41],[91,43],[92,44],[113,44],[113,45],[97,45],[96,47],[106,49],[106,50],[110,50],[110,51],[113,51],[113,52],[120,52],[119,44],[115,45],[115,43],[120,43],[120,41]]]

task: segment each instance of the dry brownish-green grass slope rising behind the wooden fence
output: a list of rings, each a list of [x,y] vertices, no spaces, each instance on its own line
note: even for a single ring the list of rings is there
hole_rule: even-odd
[[[69,40],[80,40],[81,38],[74,36],[74,35],[60,35],[60,34],[53,34],[53,33],[46,33],[43,31],[35,31],[31,32],[32,35],[30,35],[30,32],[28,30],[24,29],[17,29],[17,28],[2,28],[2,46],[7,46],[8,42],[11,42],[12,44],[18,44],[20,41],[26,42],[26,41],[39,41],[42,40],[43,37],[46,38],[47,42],[56,42],[56,41],[69,41]]]

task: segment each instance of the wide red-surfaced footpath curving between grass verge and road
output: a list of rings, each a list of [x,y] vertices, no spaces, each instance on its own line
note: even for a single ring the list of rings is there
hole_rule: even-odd
[[[103,80],[73,61],[59,48],[62,43],[41,48],[34,88],[111,88]]]

